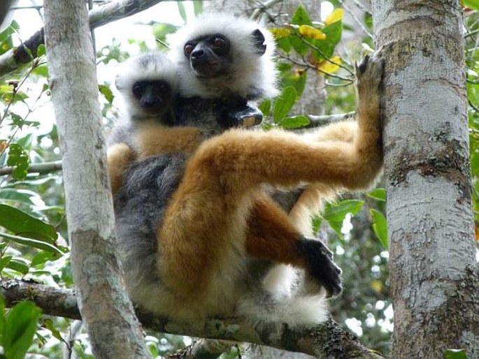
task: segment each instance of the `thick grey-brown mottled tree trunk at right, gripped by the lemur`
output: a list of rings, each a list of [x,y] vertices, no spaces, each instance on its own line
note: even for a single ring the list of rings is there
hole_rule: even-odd
[[[373,1],[385,68],[393,358],[479,357],[479,281],[457,0]]]

